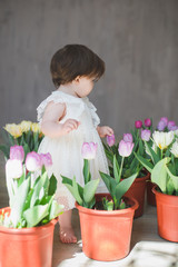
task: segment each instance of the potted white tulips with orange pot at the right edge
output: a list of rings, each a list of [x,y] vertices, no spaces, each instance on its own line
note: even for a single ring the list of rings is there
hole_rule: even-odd
[[[151,174],[156,185],[154,194],[157,202],[159,235],[170,241],[178,241],[178,136],[176,131],[152,134],[152,147],[146,145],[151,160],[136,155]]]

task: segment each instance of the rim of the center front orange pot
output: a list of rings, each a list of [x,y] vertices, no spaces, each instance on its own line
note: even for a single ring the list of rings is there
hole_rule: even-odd
[[[101,194],[96,194],[96,196],[110,196],[110,194],[106,192],[101,192]],[[125,209],[117,209],[117,210],[98,210],[98,209],[89,209],[89,208],[86,208],[86,207],[82,207],[80,206],[77,201],[76,201],[76,208],[79,210],[79,211],[82,211],[82,212],[87,212],[87,214],[91,214],[91,215],[99,215],[99,216],[116,216],[117,214],[129,214],[130,211],[132,210],[136,210],[138,209],[139,207],[139,204],[138,201],[132,198],[132,197],[123,197],[123,199],[126,200],[131,200],[134,202],[134,205],[129,208],[125,208]]]

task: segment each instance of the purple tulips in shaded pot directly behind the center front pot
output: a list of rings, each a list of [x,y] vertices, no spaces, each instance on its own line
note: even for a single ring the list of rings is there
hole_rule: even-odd
[[[147,119],[150,123],[151,120]],[[149,180],[149,172],[144,170],[142,165],[138,161],[135,156],[135,152],[145,156],[144,150],[144,140],[148,140],[151,135],[150,127],[149,128],[141,128],[142,122],[137,120],[135,122],[135,130],[131,134],[123,134],[123,138],[120,142],[115,144],[113,137],[107,137],[107,144],[105,146],[105,151],[108,157],[110,164],[110,171],[113,172],[113,156],[116,154],[116,159],[120,165],[122,161],[122,157],[125,154],[119,154],[119,146],[129,146],[129,144],[134,144],[132,152],[123,161],[123,170],[122,170],[122,179],[127,179],[130,175],[137,172],[138,176],[135,179],[134,184],[131,185],[130,189],[126,192],[126,196],[132,196],[139,202],[139,208],[135,212],[135,218],[140,217],[144,214],[144,206],[145,206],[145,191],[146,191],[146,182]]]

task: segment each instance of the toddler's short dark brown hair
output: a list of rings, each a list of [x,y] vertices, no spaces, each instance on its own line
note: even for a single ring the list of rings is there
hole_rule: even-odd
[[[105,62],[86,46],[67,44],[53,55],[50,71],[58,88],[78,76],[98,80],[105,72]]]

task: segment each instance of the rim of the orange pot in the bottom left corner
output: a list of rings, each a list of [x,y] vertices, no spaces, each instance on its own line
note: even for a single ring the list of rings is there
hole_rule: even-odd
[[[1,208],[0,210],[2,210],[2,209],[8,211],[8,210],[10,210],[10,207],[4,207],[4,208]],[[42,226],[26,227],[26,228],[9,228],[6,226],[0,226],[0,231],[1,233],[11,233],[11,234],[19,234],[21,231],[21,234],[26,235],[26,234],[31,234],[31,233],[36,233],[36,231],[39,231],[42,229],[50,228],[51,226],[56,225],[57,221],[58,221],[58,217]]]

